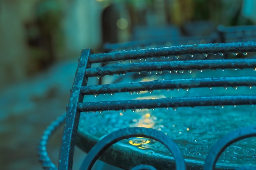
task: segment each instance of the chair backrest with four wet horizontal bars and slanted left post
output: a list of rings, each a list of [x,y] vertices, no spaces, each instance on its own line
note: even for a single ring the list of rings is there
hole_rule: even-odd
[[[256,70],[256,59],[214,59],[216,54],[221,58],[225,53],[247,55],[256,52],[256,42],[224,43],[224,44],[195,44],[186,46],[172,46],[155,49],[141,49],[132,51],[117,51],[112,53],[94,54],[90,49],[84,49],[79,58],[79,64],[71,90],[70,102],[67,105],[67,114],[63,131],[62,144],[59,157],[59,170],[71,170],[75,146],[75,137],[81,112],[100,113],[105,110],[128,110],[173,108],[184,106],[224,106],[240,104],[256,104],[256,95],[215,95],[195,97],[167,97],[158,99],[122,99],[111,101],[84,102],[85,95],[114,94],[114,93],[139,93],[158,89],[180,89],[186,91],[190,88],[200,87],[233,87],[256,86],[254,76],[218,77],[218,78],[189,78],[189,79],[156,79],[151,81],[125,82],[115,84],[102,84],[88,86],[88,77],[100,78],[106,75],[122,75],[129,79],[130,73],[138,73],[147,77],[155,73],[191,73],[193,70],[204,69],[244,69]],[[204,54],[205,58],[213,56],[213,60],[179,60],[181,55]],[[176,56],[171,60],[169,56]],[[153,62],[150,60],[155,59]],[[157,61],[156,59],[161,58]],[[217,58],[217,57],[216,57]],[[121,62],[120,62],[121,61]],[[127,62],[123,62],[127,61]],[[109,62],[106,66],[91,67],[94,63]],[[145,74],[146,73],[146,74]]]

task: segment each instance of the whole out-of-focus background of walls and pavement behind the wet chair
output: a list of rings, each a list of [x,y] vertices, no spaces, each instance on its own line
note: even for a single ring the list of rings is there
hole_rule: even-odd
[[[83,48],[211,35],[256,24],[254,9],[256,0],[1,0],[0,169],[42,169],[40,135],[65,113]],[[61,130],[49,149],[56,164],[60,139]],[[76,152],[74,169],[85,156]]]

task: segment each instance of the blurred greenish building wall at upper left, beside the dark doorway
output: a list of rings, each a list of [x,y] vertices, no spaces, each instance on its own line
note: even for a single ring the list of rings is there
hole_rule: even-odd
[[[43,26],[51,23],[48,18],[55,15],[50,6],[53,3],[61,17],[59,29],[50,33],[54,60],[49,60],[49,42],[44,40],[38,17],[44,19]],[[22,81],[52,62],[78,58],[83,48],[97,51],[102,8],[96,0],[0,0],[0,87]]]

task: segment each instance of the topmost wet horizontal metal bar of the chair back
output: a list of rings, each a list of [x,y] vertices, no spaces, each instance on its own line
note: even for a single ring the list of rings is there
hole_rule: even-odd
[[[91,63],[108,62],[116,60],[130,60],[155,56],[204,54],[204,53],[244,53],[255,52],[256,42],[234,42],[217,44],[194,44],[185,46],[171,46],[154,49],[141,49],[130,51],[117,51],[112,53],[99,53],[89,56]]]

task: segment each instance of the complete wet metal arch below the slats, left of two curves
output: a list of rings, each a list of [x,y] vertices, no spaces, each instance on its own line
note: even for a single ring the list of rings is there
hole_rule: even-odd
[[[101,139],[88,153],[88,155],[85,157],[82,166],[80,170],[90,170],[97,161],[97,159],[100,157],[100,155],[108,149],[112,144],[115,144],[117,141],[120,141],[122,139],[128,139],[130,137],[148,137],[151,139],[155,139],[157,141],[160,141],[162,144],[164,144],[168,150],[171,151],[173,154],[173,157],[175,159],[175,164],[176,164],[176,169],[177,170],[185,170],[185,161],[182,156],[182,153],[180,149],[178,148],[177,144],[165,135],[163,132],[155,129],[150,129],[150,128],[123,128],[120,130],[117,130],[115,132],[110,133],[103,139]],[[141,165],[142,166],[142,165]],[[148,166],[142,166],[142,170],[148,169]],[[150,167],[152,170],[152,167]],[[135,168],[136,170],[136,168]]]

